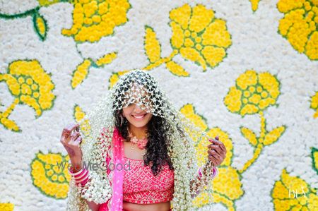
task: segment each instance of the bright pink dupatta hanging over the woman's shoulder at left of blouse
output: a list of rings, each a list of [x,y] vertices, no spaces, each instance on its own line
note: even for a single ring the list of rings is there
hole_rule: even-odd
[[[112,178],[112,205],[109,207],[108,203],[103,203],[100,205],[100,211],[122,211],[122,185],[124,179],[124,145],[122,135],[120,135],[117,128],[114,128],[114,133],[112,135],[112,155],[114,162],[114,174]],[[110,157],[106,157],[107,167],[110,167]],[[119,167],[119,170],[117,169]],[[121,170],[120,170],[121,169]],[[107,174],[110,174],[110,169],[107,168]]]

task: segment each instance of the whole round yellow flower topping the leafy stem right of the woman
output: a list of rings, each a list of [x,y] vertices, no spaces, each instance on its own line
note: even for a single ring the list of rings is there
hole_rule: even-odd
[[[224,103],[229,111],[242,116],[257,114],[270,105],[276,104],[280,95],[280,83],[271,73],[245,71],[230,88]]]

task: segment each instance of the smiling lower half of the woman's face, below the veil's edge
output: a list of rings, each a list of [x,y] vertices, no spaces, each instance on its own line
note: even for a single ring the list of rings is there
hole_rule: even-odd
[[[137,104],[129,104],[128,107],[122,109],[124,117],[129,123],[136,128],[144,127],[151,120],[153,114],[147,113],[141,109]]]

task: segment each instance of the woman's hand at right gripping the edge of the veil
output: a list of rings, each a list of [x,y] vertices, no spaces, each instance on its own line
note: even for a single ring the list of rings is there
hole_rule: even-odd
[[[226,147],[225,145],[216,139],[209,139],[211,145],[208,145],[208,159],[213,163],[214,167],[218,167],[226,156]]]

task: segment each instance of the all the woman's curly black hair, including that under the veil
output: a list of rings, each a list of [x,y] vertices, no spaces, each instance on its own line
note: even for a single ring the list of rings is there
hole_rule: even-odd
[[[124,76],[127,77],[122,78],[121,83],[118,83],[114,90],[115,100],[113,102],[113,108],[121,109],[114,109],[113,115],[115,126],[118,128],[122,138],[126,141],[130,141],[128,134],[129,121],[122,116],[122,108],[126,106],[126,93],[129,93],[132,85],[141,85],[149,91],[147,95],[149,95],[150,98],[154,97],[155,102],[150,100],[150,104],[163,102],[163,93],[157,89],[158,83],[151,75],[146,73],[146,71],[132,71],[129,75]],[[165,111],[161,111],[161,109],[165,109],[165,107],[160,104],[160,106],[155,107],[153,112],[155,114],[165,113]],[[121,116],[124,118],[123,123],[121,123]],[[175,118],[174,114],[169,114],[169,116]],[[179,126],[177,126],[177,128],[179,130]],[[171,131],[172,128],[170,124],[160,115],[153,115],[148,122],[146,131],[148,143],[146,145],[146,154],[143,155],[143,161],[147,166],[151,166],[154,175],[160,173],[165,164],[168,164],[171,170],[174,169],[172,161],[167,153],[167,149],[172,143],[171,135],[169,135],[171,134]]]

